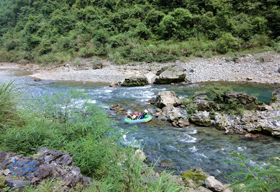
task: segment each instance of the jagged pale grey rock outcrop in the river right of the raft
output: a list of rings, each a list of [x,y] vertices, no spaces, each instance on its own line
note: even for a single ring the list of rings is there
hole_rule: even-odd
[[[246,93],[226,93],[225,100],[230,98],[238,101],[244,108],[258,106],[259,103],[255,97]],[[173,126],[188,126],[190,121],[202,126],[214,125],[217,130],[225,130],[225,134],[230,132],[246,134],[249,132],[280,137],[280,108],[271,108],[262,103],[256,108],[259,111],[247,110],[242,116],[233,118],[229,114],[215,112],[213,108],[217,107],[218,110],[218,105],[211,101],[206,94],[197,94],[194,95],[192,105],[195,111],[188,118],[185,106],[180,104],[181,100],[174,91],[161,91],[156,98],[156,105],[159,108],[156,109],[154,116],[160,120],[170,121]]]

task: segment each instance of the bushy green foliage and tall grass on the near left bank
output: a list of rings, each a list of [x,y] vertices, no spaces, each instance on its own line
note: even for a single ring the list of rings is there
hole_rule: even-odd
[[[0,151],[33,155],[47,147],[71,152],[74,166],[94,180],[88,188],[77,185],[72,191],[182,190],[170,181],[172,172],[164,171],[157,179],[146,181],[142,171],[148,176],[152,169],[134,155],[134,148],[118,145],[120,129],[106,111],[91,103],[86,91],[69,89],[67,93],[19,100],[22,95],[13,83],[1,83],[0,97],[7,105],[6,110],[0,105]],[[19,117],[22,122],[15,123]],[[0,177],[0,191],[6,191],[4,180]],[[49,178],[37,189],[31,185],[25,191],[58,191],[58,187],[58,182]]]

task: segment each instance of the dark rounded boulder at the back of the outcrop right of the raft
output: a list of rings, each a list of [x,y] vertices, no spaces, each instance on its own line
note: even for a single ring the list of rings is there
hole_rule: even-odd
[[[236,100],[237,105],[241,104],[247,110],[254,110],[257,101],[256,97],[250,96],[245,92],[235,91],[226,93],[225,95],[223,95],[222,98],[222,103],[231,104],[232,100]]]

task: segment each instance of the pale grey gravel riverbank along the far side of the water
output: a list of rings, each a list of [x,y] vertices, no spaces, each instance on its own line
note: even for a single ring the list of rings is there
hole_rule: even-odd
[[[93,69],[93,66],[99,68]],[[169,63],[133,62],[117,66],[113,63],[94,59],[79,59],[60,66],[40,66],[28,61],[2,63],[0,68],[20,68],[30,71],[31,77],[42,80],[67,80],[97,83],[122,83],[125,78],[147,73],[156,73],[162,67],[185,66],[186,80],[190,83],[207,81],[248,81],[280,84],[280,54],[265,52],[236,57],[193,58],[189,61]]]

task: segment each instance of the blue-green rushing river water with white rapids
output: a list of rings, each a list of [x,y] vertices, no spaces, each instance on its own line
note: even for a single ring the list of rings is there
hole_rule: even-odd
[[[246,157],[255,156],[249,162],[250,166],[263,165],[271,157],[271,153],[279,152],[280,139],[263,137],[262,139],[243,139],[241,136],[232,134],[225,135],[224,131],[218,131],[214,127],[201,127],[190,125],[183,128],[171,126],[170,123],[153,118],[152,121],[143,124],[125,124],[124,114],[116,114],[109,109],[111,104],[120,104],[128,112],[144,111],[150,109],[155,112],[155,106],[148,103],[149,99],[155,98],[157,93],[163,90],[173,90],[179,98],[192,95],[201,84],[185,86],[171,85],[147,85],[139,87],[109,87],[107,84],[65,81],[35,82],[29,73],[17,70],[0,70],[0,81],[14,81],[24,86],[24,90],[30,97],[40,97],[46,93],[67,92],[69,88],[87,90],[92,102],[104,108],[107,114],[119,122],[116,129],[127,133],[123,136],[123,145],[143,147],[149,162],[167,162],[172,164],[172,170],[181,174],[183,171],[202,168],[207,174],[214,176],[221,182],[229,182],[228,175],[238,170],[238,166],[222,164],[231,161],[230,152],[246,152]],[[273,88],[277,85],[222,82],[231,85],[235,91],[244,91],[248,94],[258,93],[258,100],[269,104]],[[205,83],[207,86],[209,83]],[[132,129],[133,128],[133,129]],[[162,163],[164,164],[164,163]],[[162,165],[161,164],[161,165]],[[163,168],[157,164],[156,167]]]

